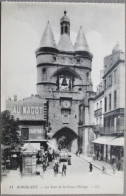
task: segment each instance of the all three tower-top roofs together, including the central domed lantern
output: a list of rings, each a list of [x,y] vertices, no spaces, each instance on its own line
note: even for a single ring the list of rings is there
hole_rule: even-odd
[[[40,41],[39,48],[53,48],[61,51],[74,52],[74,51],[86,51],[89,52],[89,46],[84,35],[82,26],[80,27],[75,45],[73,47],[70,40],[70,19],[67,16],[67,12],[64,11],[64,16],[60,19],[61,37],[58,43],[58,48],[54,40],[52,29],[48,21],[43,36]]]

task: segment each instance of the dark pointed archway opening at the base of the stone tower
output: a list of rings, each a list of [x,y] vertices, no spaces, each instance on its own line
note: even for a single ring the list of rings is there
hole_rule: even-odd
[[[77,150],[77,134],[68,127],[63,127],[58,130],[54,135],[53,139],[56,139],[59,148],[66,148],[70,151]]]

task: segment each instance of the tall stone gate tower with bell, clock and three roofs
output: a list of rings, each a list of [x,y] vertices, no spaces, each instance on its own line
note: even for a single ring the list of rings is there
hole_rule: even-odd
[[[70,40],[70,19],[67,12],[60,20],[60,40],[54,40],[47,23],[40,46],[36,50],[37,94],[48,101],[50,135],[57,142],[66,137],[71,148],[78,137],[79,103],[92,90],[92,54],[82,27],[75,45]]]

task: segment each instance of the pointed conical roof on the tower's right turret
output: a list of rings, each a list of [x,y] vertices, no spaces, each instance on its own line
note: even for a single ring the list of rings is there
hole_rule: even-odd
[[[89,47],[88,47],[88,43],[86,40],[86,37],[84,35],[82,26],[80,27],[75,45],[74,45],[74,49],[75,51],[87,51],[89,52]]]

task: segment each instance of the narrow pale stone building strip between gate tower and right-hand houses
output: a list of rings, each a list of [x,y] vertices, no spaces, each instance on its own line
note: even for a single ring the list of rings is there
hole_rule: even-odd
[[[94,128],[94,97],[93,91],[87,92],[87,97],[79,104],[78,150],[86,156],[92,156],[96,138]]]

